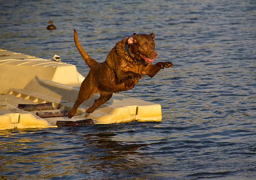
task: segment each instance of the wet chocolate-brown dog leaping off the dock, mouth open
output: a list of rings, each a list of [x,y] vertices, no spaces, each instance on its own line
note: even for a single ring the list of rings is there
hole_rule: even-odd
[[[100,97],[95,100],[92,107],[87,107],[87,113],[92,113],[97,107],[110,100],[114,92],[132,89],[142,75],[154,77],[160,69],[172,67],[172,62],[152,64],[154,58],[157,57],[154,39],[154,32],[149,35],[134,33],[117,42],[108,53],[107,59],[99,63],[85,52],[74,30],[75,45],[90,67],[90,72],[82,82],[77,100],[69,110],[68,117],[73,117],[79,105],[96,92],[100,93]]]

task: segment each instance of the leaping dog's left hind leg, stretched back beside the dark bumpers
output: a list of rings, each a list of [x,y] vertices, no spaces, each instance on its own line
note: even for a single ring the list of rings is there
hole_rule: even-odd
[[[71,118],[77,113],[77,108],[87,99],[89,99],[95,92],[97,92],[96,87],[91,87],[90,85],[90,73],[87,75],[82,82],[79,90],[79,94],[76,102],[71,110],[68,112],[68,117]]]

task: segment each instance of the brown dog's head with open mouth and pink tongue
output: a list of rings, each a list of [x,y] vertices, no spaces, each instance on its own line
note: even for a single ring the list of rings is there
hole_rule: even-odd
[[[154,32],[149,35],[133,33],[126,41],[131,57],[146,63],[152,63],[157,57],[154,40]]]

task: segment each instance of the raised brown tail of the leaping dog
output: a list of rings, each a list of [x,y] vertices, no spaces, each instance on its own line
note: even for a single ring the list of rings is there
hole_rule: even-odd
[[[77,36],[77,31],[74,30],[74,42],[75,45],[77,46],[77,50],[80,52],[80,54],[82,55],[84,62],[89,66],[92,67],[93,65],[97,65],[99,62],[95,61],[94,59],[92,59],[92,57],[90,57],[87,52],[83,49],[83,47],[80,45],[79,40],[78,40],[78,36]]]

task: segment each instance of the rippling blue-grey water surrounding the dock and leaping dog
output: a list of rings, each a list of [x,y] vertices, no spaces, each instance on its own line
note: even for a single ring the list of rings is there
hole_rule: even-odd
[[[161,122],[0,131],[2,179],[256,179],[254,0],[0,4],[0,48],[57,54],[85,76],[73,29],[99,62],[123,37],[154,32],[155,62],[174,64],[121,92],[161,104]]]

